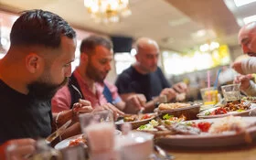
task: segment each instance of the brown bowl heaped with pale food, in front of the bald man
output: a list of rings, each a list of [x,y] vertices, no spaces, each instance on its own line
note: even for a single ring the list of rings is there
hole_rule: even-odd
[[[184,115],[187,120],[197,119],[197,113],[199,113],[201,103],[161,103],[157,108],[157,112],[160,116],[165,113],[174,115],[175,117],[180,117]]]

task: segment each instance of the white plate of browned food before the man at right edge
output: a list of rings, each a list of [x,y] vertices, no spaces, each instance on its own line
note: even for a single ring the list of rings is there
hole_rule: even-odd
[[[218,107],[199,112],[197,117],[200,119],[219,118],[229,115],[248,116],[249,113],[256,109],[255,103],[244,101],[232,101],[226,104],[220,104]]]

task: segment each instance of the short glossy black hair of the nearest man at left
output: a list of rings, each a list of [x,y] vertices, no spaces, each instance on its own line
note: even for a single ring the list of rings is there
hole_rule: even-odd
[[[76,37],[76,32],[62,17],[40,9],[28,10],[16,19],[11,46],[59,48],[61,37]]]

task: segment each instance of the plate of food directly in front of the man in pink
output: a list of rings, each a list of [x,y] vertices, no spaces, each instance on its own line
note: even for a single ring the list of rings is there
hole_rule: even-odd
[[[131,123],[132,124],[132,128],[136,129],[139,126],[150,122],[151,120],[153,120],[156,117],[156,113],[144,113],[142,115],[138,115],[138,114],[126,114],[122,117],[122,119],[118,120],[117,122],[115,122],[115,124],[117,125],[117,127],[120,127],[123,123]]]

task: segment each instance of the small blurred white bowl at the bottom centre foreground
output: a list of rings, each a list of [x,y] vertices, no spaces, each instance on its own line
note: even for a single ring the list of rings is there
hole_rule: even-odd
[[[147,160],[153,153],[153,138],[151,133],[131,131],[127,135],[116,137],[120,145],[120,154],[123,160]]]

